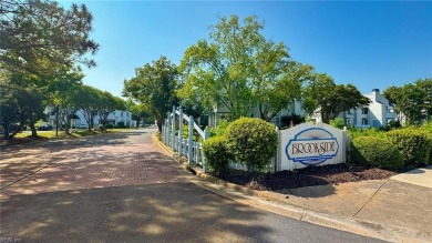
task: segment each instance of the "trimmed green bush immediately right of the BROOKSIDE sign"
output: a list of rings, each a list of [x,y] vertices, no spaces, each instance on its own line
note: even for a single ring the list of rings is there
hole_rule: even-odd
[[[391,142],[376,136],[358,136],[351,142],[350,161],[389,170],[403,168],[402,154]]]

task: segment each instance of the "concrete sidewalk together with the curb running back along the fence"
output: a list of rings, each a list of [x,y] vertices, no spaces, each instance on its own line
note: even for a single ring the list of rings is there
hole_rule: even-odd
[[[432,242],[432,165],[388,180],[278,192],[250,190],[205,174],[199,166],[184,166],[210,182],[203,186],[253,206],[390,242]]]

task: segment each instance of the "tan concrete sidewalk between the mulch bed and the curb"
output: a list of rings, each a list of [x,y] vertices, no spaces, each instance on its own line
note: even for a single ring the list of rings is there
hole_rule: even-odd
[[[432,242],[432,166],[339,185],[279,192],[286,204],[369,224],[392,241]],[[280,202],[280,200],[277,200]],[[383,229],[387,229],[384,233]],[[381,231],[381,232],[380,232]]]

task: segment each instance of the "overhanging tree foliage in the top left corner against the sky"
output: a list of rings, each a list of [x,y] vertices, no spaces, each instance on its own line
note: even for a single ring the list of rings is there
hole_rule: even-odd
[[[64,9],[50,0],[0,2],[0,68],[45,74],[52,68],[76,62],[94,67],[86,53],[99,44],[90,39],[92,14],[85,4]]]

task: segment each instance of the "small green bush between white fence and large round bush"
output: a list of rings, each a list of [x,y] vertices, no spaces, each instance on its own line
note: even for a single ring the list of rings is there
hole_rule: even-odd
[[[233,155],[228,152],[226,146],[226,139],[224,136],[215,136],[206,140],[203,143],[204,156],[206,164],[216,173],[224,174],[228,171],[229,160]]]

